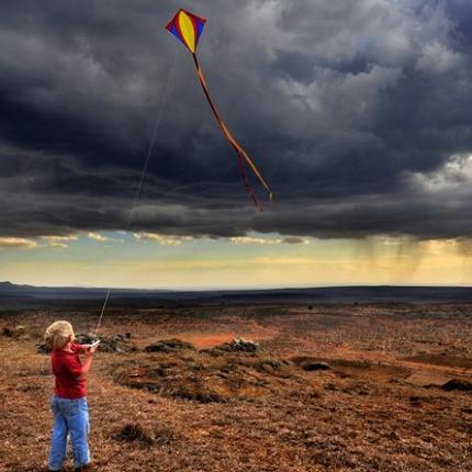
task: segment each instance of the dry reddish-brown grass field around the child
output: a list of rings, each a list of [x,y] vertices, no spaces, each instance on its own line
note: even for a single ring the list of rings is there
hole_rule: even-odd
[[[111,307],[101,335],[130,333],[138,350],[94,357],[94,462],[113,472],[472,471],[471,308]],[[0,331],[12,329],[0,336],[0,471],[45,470],[53,378],[36,346],[56,319],[88,333],[97,313],[0,312]],[[259,349],[212,349],[240,337]],[[144,350],[170,338],[192,346]],[[329,368],[305,370],[318,361]]]

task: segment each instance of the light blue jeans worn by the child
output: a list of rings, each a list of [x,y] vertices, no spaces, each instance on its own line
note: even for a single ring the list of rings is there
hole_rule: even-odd
[[[89,405],[87,398],[59,398],[53,396],[53,439],[49,453],[49,470],[59,471],[66,460],[67,435],[70,436],[74,467],[90,462],[88,443]]]

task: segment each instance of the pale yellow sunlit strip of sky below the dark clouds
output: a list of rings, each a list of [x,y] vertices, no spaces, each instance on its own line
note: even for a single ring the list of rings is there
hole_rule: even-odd
[[[228,290],[472,285],[468,239],[194,238],[75,233],[0,238],[0,280],[43,286]]]

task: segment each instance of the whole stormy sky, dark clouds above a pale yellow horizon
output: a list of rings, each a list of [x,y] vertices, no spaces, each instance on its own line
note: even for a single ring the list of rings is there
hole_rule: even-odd
[[[262,212],[164,29],[179,8],[207,19],[198,55],[274,192],[251,178]],[[469,0],[3,0],[0,18],[0,280],[472,284]]]

